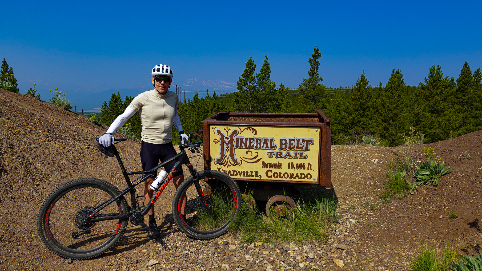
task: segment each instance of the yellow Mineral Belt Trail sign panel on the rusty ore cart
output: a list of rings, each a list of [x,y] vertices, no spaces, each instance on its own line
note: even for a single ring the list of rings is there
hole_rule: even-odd
[[[211,169],[234,179],[318,182],[320,128],[210,125]]]

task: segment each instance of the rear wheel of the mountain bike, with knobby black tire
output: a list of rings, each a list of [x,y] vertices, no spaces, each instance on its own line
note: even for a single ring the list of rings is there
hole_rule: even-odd
[[[43,244],[60,257],[69,259],[88,259],[106,252],[123,235],[128,219],[104,220],[88,225],[83,221],[94,213],[94,207],[119,194],[119,189],[111,183],[94,178],[62,184],[40,207],[37,229]],[[95,216],[124,213],[127,213],[127,204],[122,197]],[[88,229],[90,233],[74,238],[81,228]]]

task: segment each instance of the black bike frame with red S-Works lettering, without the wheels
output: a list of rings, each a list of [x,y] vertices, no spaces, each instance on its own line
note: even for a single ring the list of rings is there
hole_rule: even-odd
[[[124,141],[126,139],[117,139],[115,141]],[[114,144],[117,144],[119,142],[115,142]],[[94,207],[94,213],[92,215],[89,216],[89,218],[85,219],[84,223],[85,224],[88,224],[88,223],[92,223],[92,222],[98,222],[98,221],[105,221],[105,220],[114,220],[114,219],[127,219],[129,218],[132,214],[133,214],[133,210],[134,211],[137,211],[137,203],[136,203],[136,200],[135,200],[135,187],[137,185],[139,185],[140,183],[146,181],[147,179],[149,178],[152,178],[154,177],[154,174],[155,172],[163,167],[164,165],[166,165],[167,163],[170,163],[174,160],[177,160],[177,162],[175,163],[174,165],[174,168],[171,169],[171,171],[169,172],[169,174],[167,175],[167,177],[162,181],[162,183],[159,185],[159,188],[155,191],[154,195],[151,197],[150,201],[147,203],[147,205],[141,210],[142,212],[142,215],[146,215],[147,212],[150,210],[150,208],[152,207],[152,205],[157,201],[157,199],[159,198],[159,196],[162,194],[162,191],[164,191],[164,188],[166,188],[167,184],[173,179],[174,177],[174,173],[177,172],[177,170],[179,170],[179,168],[181,167],[181,164],[185,164],[187,166],[187,168],[189,168],[189,172],[191,173],[192,176],[194,176],[194,182],[195,182],[195,186],[196,186],[196,190],[198,190],[198,194],[199,196],[201,197],[203,203],[204,203],[204,206],[206,208],[208,208],[209,206],[206,204],[206,199],[204,198],[204,194],[202,193],[201,191],[201,186],[199,184],[199,174],[197,173],[197,171],[193,168],[193,166],[191,165],[190,161],[189,161],[189,157],[187,157],[187,153],[186,153],[186,148],[189,148],[189,147],[194,147],[195,145],[199,145],[201,144],[202,141],[199,141],[199,142],[195,142],[194,144],[193,143],[189,143],[187,145],[181,145],[179,146],[179,149],[181,150],[181,152],[177,155],[174,155],[173,157],[169,158],[168,160],[162,162],[161,164],[157,165],[156,167],[154,168],[151,168],[149,170],[144,170],[144,171],[133,171],[133,172],[127,172],[127,170],[124,168],[124,164],[122,163],[122,160],[120,159],[120,155],[119,155],[119,152],[117,151],[117,148],[115,147],[114,144],[112,144],[112,149],[114,151],[114,155],[116,156],[117,158],[117,161],[119,162],[119,166],[120,166],[120,169],[122,171],[122,174],[124,175],[124,179],[125,181],[127,182],[127,187],[122,190],[122,192],[117,195],[116,197],[112,197],[110,199],[107,199],[106,201],[104,201],[103,203],[99,204],[98,206]],[[193,150],[191,148],[191,150]],[[194,152],[194,151],[192,151]],[[139,179],[141,179],[140,181],[137,181],[135,182],[134,184],[131,182],[129,176],[130,175],[138,175],[138,174],[143,174],[142,176],[138,177],[137,179],[134,180],[137,181]],[[97,214],[100,210],[102,210],[104,207],[106,207],[107,205],[111,204],[112,202],[114,201],[117,201],[118,199],[122,198],[125,194],[127,193],[131,193],[131,206],[132,208],[128,205],[128,212],[125,213],[125,214],[119,214],[119,213],[111,213],[111,214],[98,214],[98,216],[94,217],[95,214]],[[100,216],[99,216],[100,215]],[[94,217],[94,218],[93,218]]]

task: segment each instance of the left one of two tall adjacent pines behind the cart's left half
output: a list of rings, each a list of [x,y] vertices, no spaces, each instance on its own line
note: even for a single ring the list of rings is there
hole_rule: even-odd
[[[237,112],[254,112],[255,70],[256,64],[254,64],[253,58],[250,57],[246,62],[246,68],[238,79],[238,91],[234,92],[233,95],[233,109]]]

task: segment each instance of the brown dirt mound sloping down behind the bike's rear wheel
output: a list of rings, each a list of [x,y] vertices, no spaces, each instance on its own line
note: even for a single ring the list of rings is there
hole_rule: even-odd
[[[2,89],[0,120],[0,265],[20,270],[51,264],[41,258],[59,262],[36,232],[43,199],[58,185],[82,177],[125,186],[117,161],[105,159],[96,148],[95,138],[105,128],[52,103]],[[119,149],[124,157],[135,157],[124,161],[127,169],[140,169],[139,143],[127,140]]]

